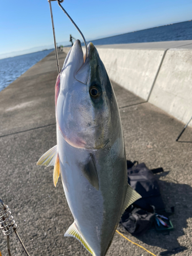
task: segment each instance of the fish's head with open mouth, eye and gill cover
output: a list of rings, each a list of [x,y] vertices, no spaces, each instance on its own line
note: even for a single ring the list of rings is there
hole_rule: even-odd
[[[56,121],[62,137],[74,147],[103,148],[113,137],[112,119],[118,119],[119,112],[110,79],[92,42],[86,58],[80,41],[75,41],[57,80]]]

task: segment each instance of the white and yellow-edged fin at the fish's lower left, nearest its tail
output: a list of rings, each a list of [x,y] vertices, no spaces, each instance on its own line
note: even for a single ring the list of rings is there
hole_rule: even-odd
[[[81,232],[77,228],[75,222],[68,228],[67,232],[64,234],[64,237],[74,237],[76,238],[83,246],[86,248],[92,255],[95,256],[94,251],[92,248],[89,246],[88,242],[86,239],[83,238]]]

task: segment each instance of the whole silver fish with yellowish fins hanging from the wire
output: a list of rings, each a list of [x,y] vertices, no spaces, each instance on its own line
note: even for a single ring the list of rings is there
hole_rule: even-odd
[[[57,145],[37,165],[61,176],[74,237],[94,256],[104,256],[124,210],[141,196],[127,183],[122,124],[115,93],[92,42],[83,57],[74,42],[55,85]]]

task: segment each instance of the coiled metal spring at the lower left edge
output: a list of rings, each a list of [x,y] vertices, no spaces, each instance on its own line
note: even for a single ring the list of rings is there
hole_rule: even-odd
[[[13,220],[8,205],[5,205],[1,199],[0,203],[0,228],[3,229],[5,236],[9,236],[16,230],[17,224]]]

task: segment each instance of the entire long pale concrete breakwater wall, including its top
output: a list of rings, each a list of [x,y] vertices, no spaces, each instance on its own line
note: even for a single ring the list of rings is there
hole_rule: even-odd
[[[192,40],[96,47],[113,81],[188,122],[192,115]]]

